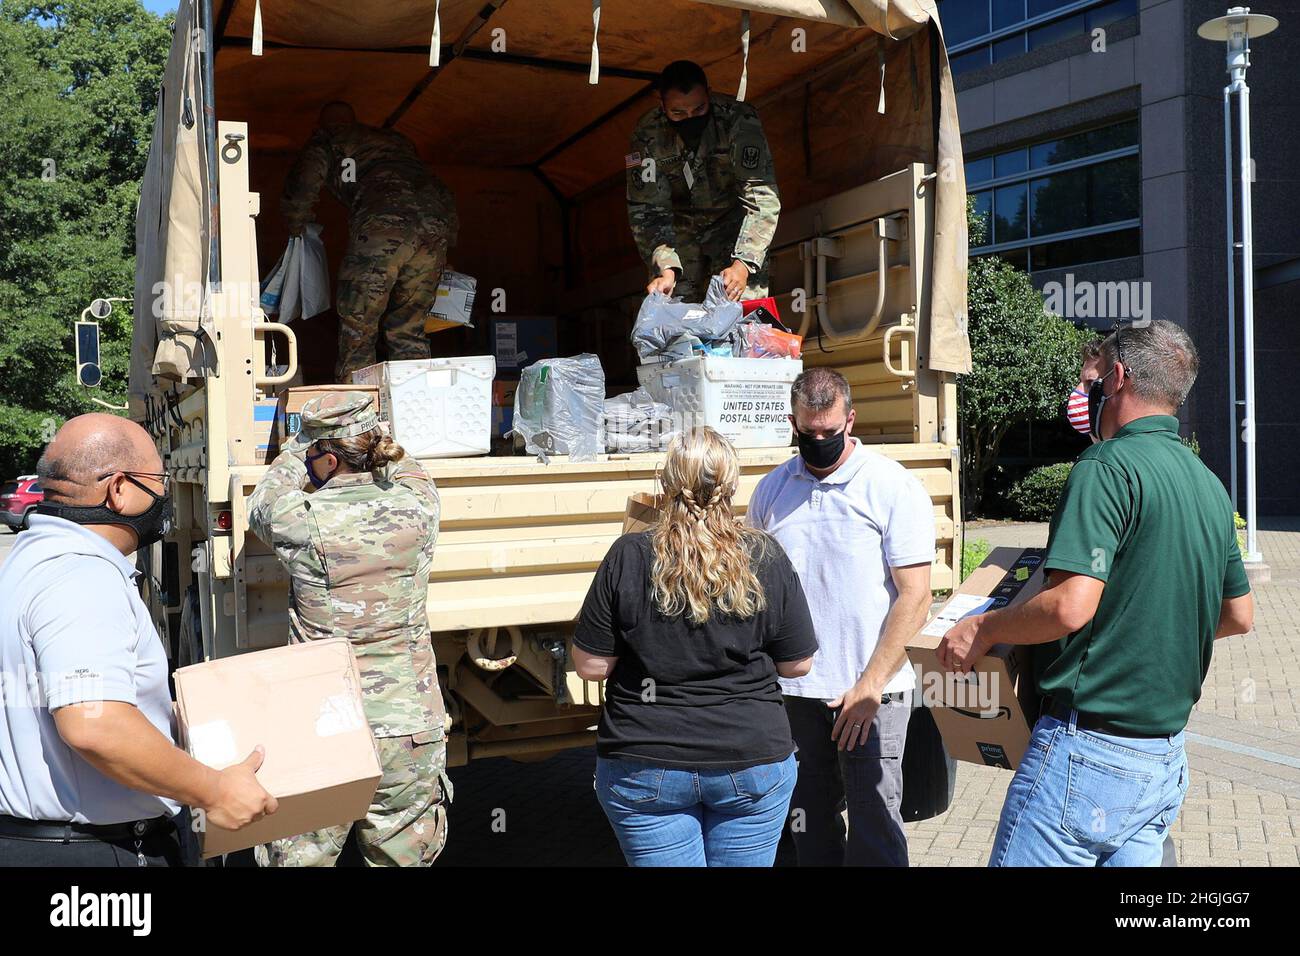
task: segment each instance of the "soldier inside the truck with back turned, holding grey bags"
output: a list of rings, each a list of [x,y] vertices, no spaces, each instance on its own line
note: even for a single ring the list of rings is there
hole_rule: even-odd
[[[335,381],[374,364],[384,329],[389,359],[429,358],[424,317],[456,243],[456,203],[410,139],[356,122],[346,103],[321,111],[281,198],[290,235],[312,220],[321,186],[347,207],[348,247],[338,273]]]

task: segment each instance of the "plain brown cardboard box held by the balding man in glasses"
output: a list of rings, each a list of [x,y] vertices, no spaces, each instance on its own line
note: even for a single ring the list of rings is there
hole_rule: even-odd
[[[382,771],[342,637],[235,654],[176,672],[182,745],[222,770],[261,744],[280,809],[243,830],[196,814],[204,858],[364,817]],[[199,822],[202,821],[202,825]]]

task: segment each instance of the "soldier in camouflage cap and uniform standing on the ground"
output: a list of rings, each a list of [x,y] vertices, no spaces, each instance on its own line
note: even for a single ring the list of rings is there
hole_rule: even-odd
[[[289,572],[290,641],[347,637],[356,652],[384,767],[370,812],[356,823],[365,862],[429,866],[446,843],[443,795],[451,799],[425,617],[438,490],[378,431],[368,394],[313,398],[302,421],[248,499],[250,524]],[[277,840],[257,848],[257,861],[332,866],[351,829]]]

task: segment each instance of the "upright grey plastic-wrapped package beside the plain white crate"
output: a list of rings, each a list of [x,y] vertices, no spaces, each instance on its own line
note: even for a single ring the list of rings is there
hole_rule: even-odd
[[[603,415],[604,369],[590,352],[542,359],[519,375],[514,432],[543,462],[551,455],[594,460],[604,451]]]

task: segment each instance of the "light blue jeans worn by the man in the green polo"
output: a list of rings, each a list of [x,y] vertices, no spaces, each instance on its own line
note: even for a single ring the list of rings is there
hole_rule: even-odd
[[[1187,796],[1183,732],[1124,737],[1041,717],[1006,791],[989,866],[1160,866]]]

